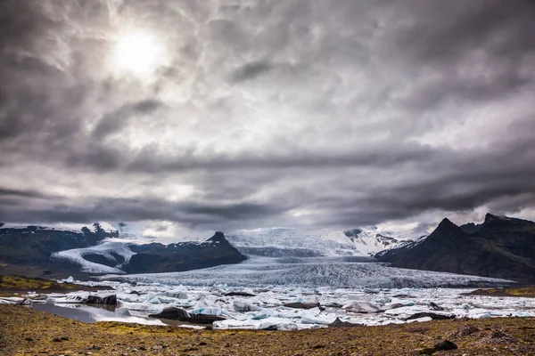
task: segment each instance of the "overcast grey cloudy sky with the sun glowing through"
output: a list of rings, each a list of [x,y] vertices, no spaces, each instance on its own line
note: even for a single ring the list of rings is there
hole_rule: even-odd
[[[0,221],[535,218],[535,2],[1,0]]]

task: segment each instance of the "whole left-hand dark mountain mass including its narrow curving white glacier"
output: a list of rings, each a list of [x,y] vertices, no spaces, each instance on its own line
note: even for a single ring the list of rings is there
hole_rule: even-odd
[[[240,263],[245,256],[221,232],[202,243],[140,245],[119,239],[109,223],[80,231],[42,226],[0,226],[0,271],[63,276],[77,273],[188,271],[222,263]]]

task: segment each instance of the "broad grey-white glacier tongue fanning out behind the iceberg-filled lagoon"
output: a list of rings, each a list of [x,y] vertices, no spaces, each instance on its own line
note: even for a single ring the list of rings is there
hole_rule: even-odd
[[[255,256],[243,263],[203,270],[103,277],[110,278],[168,285],[251,287],[484,287],[510,283],[505,279],[399,269],[383,263],[348,263],[343,257],[277,259]]]

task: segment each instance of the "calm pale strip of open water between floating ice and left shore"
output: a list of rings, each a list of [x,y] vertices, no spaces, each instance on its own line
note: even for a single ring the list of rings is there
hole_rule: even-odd
[[[117,309],[115,305],[103,304],[53,304],[53,303],[32,303],[32,308],[41,312],[78,320],[85,323],[95,323],[97,321],[119,321],[146,325],[168,325],[172,327],[197,327],[177,320],[164,320],[149,318],[147,312],[128,311],[124,308]],[[204,326],[205,327],[205,326]]]

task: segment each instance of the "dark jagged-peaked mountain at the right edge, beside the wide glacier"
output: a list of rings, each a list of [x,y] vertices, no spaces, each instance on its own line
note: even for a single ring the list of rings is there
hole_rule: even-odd
[[[535,223],[487,214],[481,225],[444,219],[427,239],[376,255],[394,267],[535,282]]]

